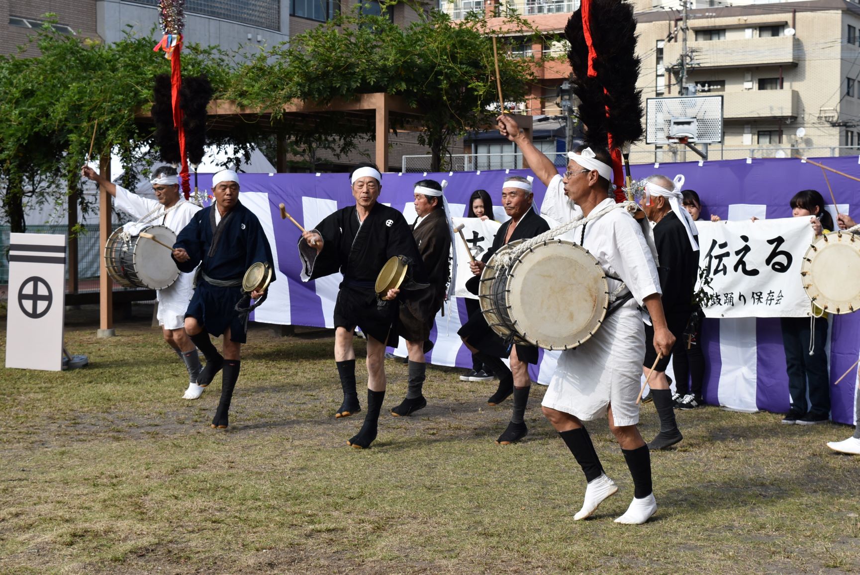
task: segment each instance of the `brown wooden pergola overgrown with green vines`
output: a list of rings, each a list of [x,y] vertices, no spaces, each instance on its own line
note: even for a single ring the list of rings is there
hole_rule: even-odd
[[[355,122],[356,125],[367,125],[372,121],[375,124],[374,138],[374,161],[384,171],[387,171],[390,147],[391,126],[396,125],[398,129],[405,131],[420,131],[421,110],[409,107],[407,101],[401,96],[390,95],[384,92],[375,94],[359,94],[354,100],[335,99],[327,104],[302,101],[288,104],[279,113],[280,121],[290,124],[312,124],[325,114],[339,113],[344,121]],[[210,132],[232,132],[237,126],[254,123],[256,129],[261,132],[278,134],[279,125],[273,122],[271,110],[262,110],[238,106],[234,101],[212,101],[207,108],[208,125]],[[531,139],[531,116],[513,116],[517,124]],[[141,110],[137,119],[142,123],[151,123],[149,111]],[[494,126],[486,126],[486,129],[494,129]],[[278,139],[278,158],[276,169],[279,172],[286,171],[286,141]],[[527,168],[524,162],[524,167]],[[107,179],[111,179],[110,156],[101,156],[99,172]],[[72,225],[72,214],[77,219],[77,209],[69,212],[70,225]],[[75,222],[77,223],[77,222]],[[111,222],[111,197],[103,187],[99,193],[99,236],[101,246],[107,244],[107,238],[112,229]],[[70,279],[71,285],[77,284],[77,242],[70,241]],[[72,255],[73,254],[73,255]],[[100,308],[100,337],[114,335],[114,291],[113,282],[107,275],[107,266],[104,257],[99,265],[99,308]],[[74,278],[71,277],[74,274]]]

